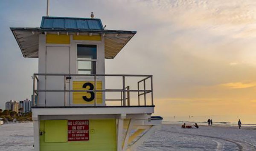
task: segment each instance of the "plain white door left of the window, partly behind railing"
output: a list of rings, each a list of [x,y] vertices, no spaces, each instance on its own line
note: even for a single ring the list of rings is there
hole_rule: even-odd
[[[70,47],[47,46],[46,51],[47,74],[70,73]],[[64,76],[47,76],[46,89],[64,90]],[[66,98],[69,102],[68,92]],[[46,106],[64,106],[64,92],[46,92]]]

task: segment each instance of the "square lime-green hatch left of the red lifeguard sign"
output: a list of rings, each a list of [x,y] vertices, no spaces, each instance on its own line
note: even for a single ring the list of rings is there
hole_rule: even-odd
[[[46,120],[45,142],[67,142],[67,120]]]

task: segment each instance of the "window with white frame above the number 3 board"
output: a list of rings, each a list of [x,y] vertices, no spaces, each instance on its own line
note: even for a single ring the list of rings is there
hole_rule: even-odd
[[[96,60],[96,45],[77,45],[78,74],[96,74]]]

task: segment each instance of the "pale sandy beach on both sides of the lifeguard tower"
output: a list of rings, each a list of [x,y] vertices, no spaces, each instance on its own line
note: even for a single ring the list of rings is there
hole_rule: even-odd
[[[255,151],[256,127],[201,126],[183,129],[164,124],[137,151]],[[0,151],[32,151],[33,124],[0,126]]]

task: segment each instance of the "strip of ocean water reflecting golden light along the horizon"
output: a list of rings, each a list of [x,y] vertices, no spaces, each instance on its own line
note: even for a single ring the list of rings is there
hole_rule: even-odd
[[[235,126],[238,120],[241,120],[244,126],[256,127],[256,114],[255,115],[211,115],[211,116],[172,116],[163,117],[163,123],[198,123],[199,125],[208,125],[207,120],[212,119],[212,125],[227,125]]]

